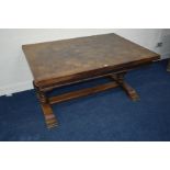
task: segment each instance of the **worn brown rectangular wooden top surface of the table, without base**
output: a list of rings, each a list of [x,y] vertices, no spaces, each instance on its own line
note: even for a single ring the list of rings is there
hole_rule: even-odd
[[[36,82],[159,58],[158,54],[113,33],[23,45],[22,48]]]

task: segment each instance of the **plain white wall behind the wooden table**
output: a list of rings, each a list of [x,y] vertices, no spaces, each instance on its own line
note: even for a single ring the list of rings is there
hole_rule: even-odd
[[[23,44],[113,32],[149,49],[160,52],[160,49],[156,48],[156,44],[161,38],[162,30],[0,30],[0,95],[32,89],[33,78],[21,49]],[[163,54],[162,50],[161,53]]]

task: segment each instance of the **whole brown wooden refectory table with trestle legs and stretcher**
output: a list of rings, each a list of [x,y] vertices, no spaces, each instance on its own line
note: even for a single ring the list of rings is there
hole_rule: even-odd
[[[160,57],[114,33],[29,44],[22,48],[34,77],[33,84],[48,128],[58,125],[52,110],[54,103],[116,87],[121,87],[132,100],[138,100],[136,91],[125,82],[125,73]],[[102,77],[110,78],[111,82],[57,97],[46,95],[54,88]]]

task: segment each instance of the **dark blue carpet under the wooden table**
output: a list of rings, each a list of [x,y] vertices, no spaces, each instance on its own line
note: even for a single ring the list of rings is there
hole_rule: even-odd
[[[59,127],[47,129],[34,90],[0,98],[2,141],[167,141],[170,140],[170,72],[167,60],[133,70],[127,82],[140,100],[120,88],[53,105]],[[107,80],[60,88],[53,93]]]

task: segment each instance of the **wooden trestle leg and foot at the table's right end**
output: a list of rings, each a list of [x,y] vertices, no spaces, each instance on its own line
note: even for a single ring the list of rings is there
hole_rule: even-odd
[[[137,92],[127,82],[124,81],[125,73],[126,72],[112,75],[111,78],[114,79],[122,87],[122,89],[133,101],[137,101],[139,100]]]

